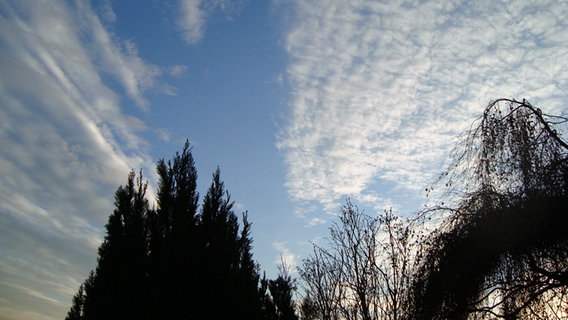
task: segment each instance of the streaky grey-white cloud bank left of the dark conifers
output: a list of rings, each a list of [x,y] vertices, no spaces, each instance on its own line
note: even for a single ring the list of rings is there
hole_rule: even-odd
[[[95,263],[112,191],[131,168],[153,172],[146,126],[119,95],[148,108],[162,71],[104,23],[84,1],[0,3],[2,319],[63,318]]]

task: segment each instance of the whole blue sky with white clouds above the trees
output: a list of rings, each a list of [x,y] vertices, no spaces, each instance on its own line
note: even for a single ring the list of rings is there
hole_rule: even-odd
[[[562,1],[0,0],[0,319],[63,319],[113,194],[187,140],[269,277],[352,199],[411,216],[497,98],[568,106]]]

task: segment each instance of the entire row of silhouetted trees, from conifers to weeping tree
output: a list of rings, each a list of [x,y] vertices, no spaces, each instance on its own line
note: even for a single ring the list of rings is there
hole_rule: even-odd
[[[251,224],[219,170],[199,206],[189,144],[116,191],[97,268],[67,319],[568,318],[568,118],[526,100],[489,104],[426,191],[424,210],[341,208],[296,280],[260,277]],[[434,189],[438,193],[434,194]],[[440,192],[440,190],[443,190]]]

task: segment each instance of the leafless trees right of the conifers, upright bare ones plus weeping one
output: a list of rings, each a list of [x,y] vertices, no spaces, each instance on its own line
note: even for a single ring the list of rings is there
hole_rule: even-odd
[[[487,106],[409,219],[351,202],[299,268],[303,319],[568,318],[562,116]]]

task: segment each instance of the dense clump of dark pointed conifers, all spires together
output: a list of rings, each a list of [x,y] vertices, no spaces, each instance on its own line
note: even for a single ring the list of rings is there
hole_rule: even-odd
[[[157,208],[141,173],[116,191],[97,267],[66,319],[297,319],[291,277],[260,277],[251,223],[234,213],[219,169],[201,206],[188,142],[156,170]]]

